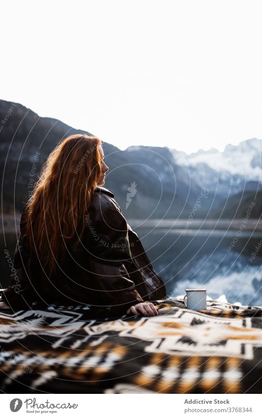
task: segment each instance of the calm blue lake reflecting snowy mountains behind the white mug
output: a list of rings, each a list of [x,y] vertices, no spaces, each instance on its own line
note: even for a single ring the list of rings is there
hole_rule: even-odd
[[[187,288],[204,287],[212,298],[225,294],[230,303],[262,305],[262,223],[258,220],[250,219],[242,230],[241,220],[194,220],[188,228],[181,219],[128,219],[128,223],[170,297],[184,294]],[[3,251],[6,247],[12,257],[16,241],[14,225],[5,225],[1,288],[7,287],[11,274]]]

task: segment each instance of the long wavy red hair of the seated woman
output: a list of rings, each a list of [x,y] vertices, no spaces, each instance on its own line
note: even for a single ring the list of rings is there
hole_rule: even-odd
[[[25,233],[47,274],[56,271],[66,242],[85,231],[85,215],[102,175],[102,141],[76,134],[58,143],[43,164],[26,204]]]

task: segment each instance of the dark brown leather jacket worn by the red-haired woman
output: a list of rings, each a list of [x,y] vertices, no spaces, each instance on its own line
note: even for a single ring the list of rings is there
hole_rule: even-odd
[[[114,194],[97,187],[86,215],[80,245],[67,245],[67,256],[48,277],[32,257],[26,238],[25,212],[14,255],[16,275],[2,291],[2,300],[14,310],[34,302],[87,304],[111,315],[123,315],[135,303],[162,299],[166,289],[146,256],[138,235],[127,224]]]

